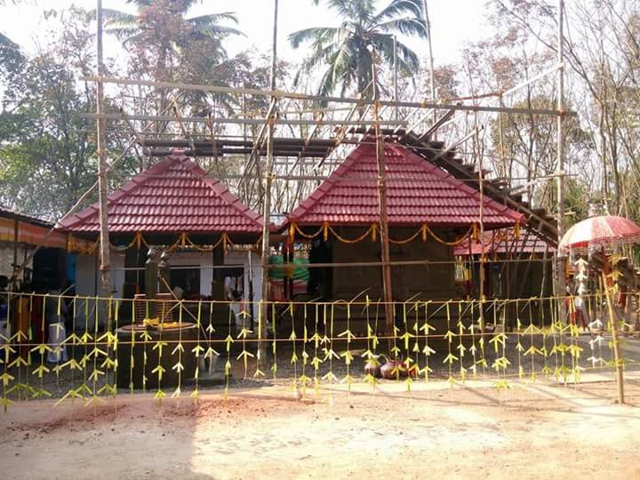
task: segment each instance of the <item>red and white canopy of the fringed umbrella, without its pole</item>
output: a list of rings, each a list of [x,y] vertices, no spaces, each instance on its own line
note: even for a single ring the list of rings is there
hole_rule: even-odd
[[[568,253],[613,252],[622,245],[640,243],[640,227],[631,220],[614,215],[599,215],[569,228],[560,240],[558,251]]]

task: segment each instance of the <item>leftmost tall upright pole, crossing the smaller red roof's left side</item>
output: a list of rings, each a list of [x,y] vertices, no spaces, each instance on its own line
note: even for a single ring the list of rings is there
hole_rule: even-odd
[[[98,83],[96,106],[98,112],[98,197],[100,202],[100,295],[107,298],[111,294],[111,259],[109,252],[108,212],[107,212],[107,140],[106,122],[104,118],[104,63],[102,60],[102,0],[97,0],[96,29]],[[106,302],[105,307],[107,305]],[[105,308],[106,311],[106,308]]]

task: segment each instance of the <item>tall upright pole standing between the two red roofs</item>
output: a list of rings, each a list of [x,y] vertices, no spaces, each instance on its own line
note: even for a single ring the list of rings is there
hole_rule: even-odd
[[[277,65],[277,11],[278,0],[274,0],[274,27],[273,27],[273,51],[271,54],[271,91],[276,90],[276,65]],[[276,102],[276,98],[271,98],[271,105]],[[272,111],[269,108],[269,111]],[[273,109],[275,116],[275,108]],[[273,135],[274,117],[267,119],[267,164],[264,172],[264,198],[262,206],[262,306],[261,306],[261,332],[258,344],[260,359],[265,361],[267,356],[267,322],[268,322],[268,274],[269,274],[269,225],[271,224],[271,175],[273,170]],[[274,325],[275,330],[275,325]],[[260,362],[260,361],[259,361]],[[260,364],[259,364],[260,367]]]

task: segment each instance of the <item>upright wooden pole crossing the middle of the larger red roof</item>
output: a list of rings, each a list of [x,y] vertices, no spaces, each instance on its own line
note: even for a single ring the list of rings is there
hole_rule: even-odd
[[[373,83],[373,115],[376,136],[376,161],[378,164],[378,199],[380,207],[380,247],[382,260],[382,292],[385,301],[385,333],[389,337],[394,333],[393,290],[391,285],[391,255],[388,243],[388,212],[387,212],[387,181],[385,175],[384,139],[380,130],[380,102],[378,92],[378,78],[375,68],[375,52],[372,55],[372,83]],[[389,350],[390,350],[389,340]]]

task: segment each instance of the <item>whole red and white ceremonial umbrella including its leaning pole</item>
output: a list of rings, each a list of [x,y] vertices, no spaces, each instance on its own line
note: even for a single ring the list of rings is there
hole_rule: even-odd
[[[592,205],[589,214],[596,213],[596,206]],[[604,256],[604,292],[609,308],[609,316],[612,324],[613,356],[616,364],[618,380],[618,401],[624,404],[624,378],[622,364],[620,362],[620,345],[618,330],[616,328],[613,304],[610,295],[612,279],[610,262],[607,254],[616,252],[623,245],[640,243],[640,227],[633,221],[613,215],[593,215],[587,220],[576,223],[569,228],[560,240],[558,252],[562,254],[593,254],[601,252]]]

